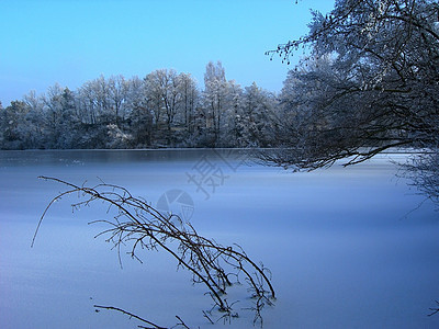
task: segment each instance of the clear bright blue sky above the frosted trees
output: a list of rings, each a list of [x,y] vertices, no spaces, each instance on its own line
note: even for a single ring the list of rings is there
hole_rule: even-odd
[[[203,88],[210,60],[243,87],[279,91],[289,67],[264,52],[307,32],[330,0],[0,0],[0,101],[100,75],[189,72]],[[297,54],[296,58],[299,58]],[[291,67],[290,67],[291,68]]]

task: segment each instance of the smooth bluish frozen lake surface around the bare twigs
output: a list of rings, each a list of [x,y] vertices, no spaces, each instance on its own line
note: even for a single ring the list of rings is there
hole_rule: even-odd
[[[64,191],[38,175],[103,180],[159,207],[183,193],[171,211],[272,271],[278,299],[264,328],[439,328],[439,315],[427,317],[439,298],[439,216],[428,202],[410,213],[423,196],[390,158],[404,156],[291,173],[227,150],[0,151],[0,328],[139,325],[93,304],[161,326],[178,315],[211,327],[205,288],[167,254],[145,251],[143,264],[126,256],[120,268],[111,245],[93,238],[102,226],[88,225],[105,218],[99,206],[72,213],[77,200],[57,203],[31,248],[44,208]],[[251,328],[252,315],[240,315],[226,327]]]

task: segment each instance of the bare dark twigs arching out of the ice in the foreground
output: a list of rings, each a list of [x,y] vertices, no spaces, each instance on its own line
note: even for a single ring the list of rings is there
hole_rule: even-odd
[[[255,311],[254,324],[259,322],[262,326],[261,310],[264,305],[272,305],[275,297],[270,282],[271,273],[262,263],[254,262],[240,246],[224,247],[213,239],[204,238],[190,223],[184,223],[179,216],[160,213],[145,200],[134,197],[124,188],[104,182],[88,188],[56,178],[41,178],[59,182],[69,189],[50,201],[40,219],[32,245],[47,211],[63,196],[78,194],[82,198],[72,205],[74,208],[89,205],[94,201],[103,202],[110,208],[115,208],[115,216],[112,219],[93,223],[104,223],[110,226],[98,236],[108,236],[106,241],[112,242],[117,249],[120,262],[121,247],[126,245],[131,245],[128,251],[131,257],[140,262],[139,248],[166,251],[178,261],[178,268],[191,272],[193,283],[201,283],[207,288],[206,295],[212,298],[213,307],[203,314],[211,322],[214,322],[212,318],[216,317],[214,310],[221,314],[217,320],[230,321],[234,317],[238,317],[238,313],[233,308],[236,302],[228,303],[226,294],[229,286],[244,280],[255,300],[255,306],[249,308]],[[123,313],[134,316],[127,311]]]

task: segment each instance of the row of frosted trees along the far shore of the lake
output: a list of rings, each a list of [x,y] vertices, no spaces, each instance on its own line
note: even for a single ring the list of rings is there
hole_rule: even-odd
[[[0,105],[1,149],[270,147],[274,93],[244,89],[209,63],[200,90],[190,73],[103,76],[77,90],[55,84]]]

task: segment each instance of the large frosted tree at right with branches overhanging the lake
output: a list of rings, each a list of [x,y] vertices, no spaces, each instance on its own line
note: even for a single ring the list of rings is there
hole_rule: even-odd
[[[326,16],[314,12],[307,35],[271,52],[289,61],[297,48],[311,48],[283,92],[297,115],[288,123],[300,126],[283,125],[289,150],[270,160],[314,169],[347,157],[356,163],[391,147],[436,151],[438,18],[432,0],[338,0]]]

